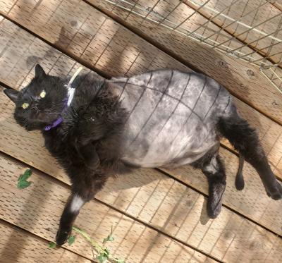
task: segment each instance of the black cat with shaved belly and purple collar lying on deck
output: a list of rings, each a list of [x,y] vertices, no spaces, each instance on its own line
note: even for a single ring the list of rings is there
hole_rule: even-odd
[[[254,128],[241,118],[231,94],[200,73],[175,69],[106,80],[96,73],[35,78],[20,92],[6,89],[14,118],[26,130],[41,130],[45,146],[71,178],[72,194],[61,215],[56,243],[62,245],[80,208],[109,176],[142,167],[190,164],[209,183],[207,214],[216,218],[226,188],[219,140],[240,153],[236,187],[244,186],[243,160],[255,167],[267,194],[282,197]]]

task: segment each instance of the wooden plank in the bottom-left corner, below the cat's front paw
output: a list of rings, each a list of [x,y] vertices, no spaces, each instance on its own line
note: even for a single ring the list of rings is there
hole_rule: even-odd
[[[90,263],[73,252],[60,249],[52,249],[48,241],[38,238],[27,231],[11,226],[4,221],[0,222],[1,262],[5,263],[32,263],[32,262],[58,262],[58,263]]]

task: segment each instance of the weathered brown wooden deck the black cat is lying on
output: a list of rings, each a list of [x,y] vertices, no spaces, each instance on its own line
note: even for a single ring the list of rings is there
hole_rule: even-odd
[[[154,6],[156,1],[148,2]],[[277,13],[281,6],[276,1],[266,8]],[[181,19],[192,8],[184,8]],[[70,182],[44,149],[42,136],[15,123],[13,103],[2,92],[25,86],[36,63],[53,75],[72,75],[81,65],[107,78],[166,67],[205,73],[233,94],[282,181],[282,95],[259,68],[176,33],[171,37],[166,28],[141,23],[106,1],[0,0],[0,15],[0,262],[94,261],[81,236],[71,246],[48,247]],[[197,23],[207,16],[197,15]],[[222,23],[216,20],[213,27]],[[222,37],[233,33],[231,28]],[[142,169],[109,180],[85,204],[75,225],[101,243],[113,226],[115,240],[109,249],[130,263],[282,262],[282,201],[267,197],[248,164],[245,189],[236,191],[238,157],[228,142],[221,145],[227,187],[217,219],[207,218],[203,174],[185,166]],[[33,172],[32,184],[20,190],[18,176],[27,167]]]

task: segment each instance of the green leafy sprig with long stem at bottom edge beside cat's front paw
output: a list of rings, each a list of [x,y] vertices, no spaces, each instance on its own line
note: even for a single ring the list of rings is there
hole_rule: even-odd
[[[99,261],[99,263],[106,263],[106,262],[125,263],[123,259],[112,257],[109,249],[105,247],[107,242],[114,241],[114,237],[112,236],[113,228],[111,228],[111,233],[109,234],[109,236],[104,238],[103,245],[99,245],[96,241],[90,238],[90,236],[88,236],[88,234],[82,229],[73,226],[73,230],[80,233],[80,235],[83,236],[83,238],[85,238],[90,243],[91,247],[93,247],[94,250],[98,253],[96,259]]]

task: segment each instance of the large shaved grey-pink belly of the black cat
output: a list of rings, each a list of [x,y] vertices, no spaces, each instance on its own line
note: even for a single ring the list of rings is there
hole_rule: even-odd
[[[128,110],[123,161],[142,167],[191,164],[219,144],[216,123],[230,98],[214,80],[160,70],[111,83]]]

